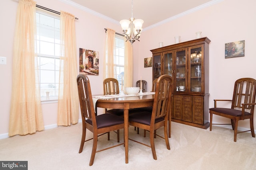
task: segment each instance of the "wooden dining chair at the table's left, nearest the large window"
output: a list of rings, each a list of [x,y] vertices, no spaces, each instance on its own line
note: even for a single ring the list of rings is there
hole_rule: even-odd
[[[96,152],[102,150],[110,149],[123,145],[120,143],[112,147],[107,147],[105,149],[97,150],[98,137],[110,131],[124,129],[124,119],[122,117],[112,115],[112,114],[101,114],[96,115],[94,111],[94,105],[92,101],[92,93],[90,87],[90,81],[85,74],[79,74],[76,78],[78,86],[78,97],[80,102],[80,109],[82,115],[82,139],[80,144],[79,153],[83,151],[84,143],[91,139],[85,141],[86,138],[86,129],[93,133],[93,144],[92,144],[92,153],[90,158],[89,165],[92,166],[95,158]],[[119,142],[119,133],[118,142]],[[108,140],[109,135],[108,135]]]

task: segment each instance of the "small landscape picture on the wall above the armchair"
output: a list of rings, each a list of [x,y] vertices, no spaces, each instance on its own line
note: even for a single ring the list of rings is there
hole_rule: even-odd
[[[225,59],[244,57],[244,40],[225,44]]]

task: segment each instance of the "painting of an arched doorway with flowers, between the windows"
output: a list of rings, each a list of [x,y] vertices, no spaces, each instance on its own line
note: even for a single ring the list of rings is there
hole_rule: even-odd
[[[79,48],[79,71],[99,75],[99,52]]]

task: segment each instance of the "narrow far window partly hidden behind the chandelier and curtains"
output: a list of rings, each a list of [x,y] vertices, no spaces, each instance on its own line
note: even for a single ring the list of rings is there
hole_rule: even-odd
[[[121,90],[122,80],[124,81],[124,37],[117,34],[116,53],[114,54],[114,77],[118,80],[119,90]]]

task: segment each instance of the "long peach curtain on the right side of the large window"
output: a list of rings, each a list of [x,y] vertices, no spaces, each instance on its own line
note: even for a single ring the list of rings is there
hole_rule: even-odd
[[[58,99],[58,125],[68,126],[78,123],[79,101],[76,84],[77,55],[75,17],[60,12],[60,80]]]

